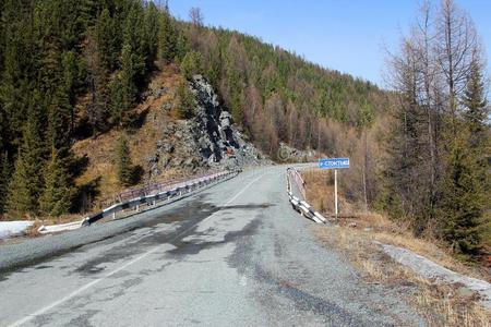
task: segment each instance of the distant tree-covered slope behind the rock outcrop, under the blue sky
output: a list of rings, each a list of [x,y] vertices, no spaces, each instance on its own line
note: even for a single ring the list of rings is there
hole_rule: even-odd
[[[182,64],[211,78],[235,121],[272,157],[279,142],[333,155],[344,153],[333,135],[333,122],[346,133],[387,114],[390,94],[370,82],[324,69],[238,32],[200,24],[180,26],[196,51],[189,52]]]

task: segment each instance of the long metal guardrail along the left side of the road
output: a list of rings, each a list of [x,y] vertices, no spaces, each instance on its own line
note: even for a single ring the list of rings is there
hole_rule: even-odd
[[[112,216],[116,218],[116,213],[135,208],[136,210],[140,209],[141,205],[155,205],[157,202],[170,199],[176,196],[180,196],[185,193],[190,193],[194,190],[197,190],[202,186],[208,185],[217,180],[226,179],[228,177],[235,175],[239,173],[239,171],[223,171],[223,172],[216,172],[213,174],[194,178],[192,180],[178,182],[175,184],[165,184],[164,186],[166,189],[154,189],[154,191],[158,190],[158,192],[154,194],[144,194],[141,196],[136,196],[127,201],[122,201],[120,203],[113,204],[105,209],[103,209],[99,213],[96,213],[92,216],[88,216],[85,218],[82,222],[82,226],[89,226],[105,217]],[[141,189],[141,190],[148,190],[148,189]],[[141,191],[137,190],[137,191]],[[163,191],[160,191],[163,190]]]

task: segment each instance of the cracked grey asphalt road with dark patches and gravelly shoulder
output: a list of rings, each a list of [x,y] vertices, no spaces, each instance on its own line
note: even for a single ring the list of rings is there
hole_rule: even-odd
[[[249,170],[132,218],[0,246],[0,264],[51,252],[0,274],[0,326],[422,325],[396,290],[322,247],[285,187],[285,167]]]

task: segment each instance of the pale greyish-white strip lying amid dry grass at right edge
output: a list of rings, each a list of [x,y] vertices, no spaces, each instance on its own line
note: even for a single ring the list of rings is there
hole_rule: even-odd
[[[384,252],[393,259],[411,268],[424,278],[434,279],[436,282],[462,283],[466,288],[478,292],[484,307],[491,308],[491,283],[452,271],[410,250],[380,242],[375,243],[381,245]]]

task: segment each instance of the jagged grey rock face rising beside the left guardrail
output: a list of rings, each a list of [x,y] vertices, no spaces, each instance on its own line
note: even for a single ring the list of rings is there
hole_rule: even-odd
[[[168,168],[199,171],[271,162],[233,128],[231,114],[206,78],[195,75],[189,86],[196,100],[195,116],[165,125],[156,153],[146,160],[151,175]]]

